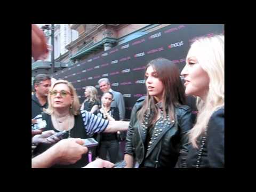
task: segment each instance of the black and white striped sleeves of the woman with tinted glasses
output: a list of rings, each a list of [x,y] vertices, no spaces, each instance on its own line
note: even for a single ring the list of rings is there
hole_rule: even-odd
[[[86,110],[81,110],[81,116],[84,122],[84,128],[87,135],[93,135],[94,133],[103,132],[107,126],[109,121],[92,113],[89,113]],[[34,119],[37,119],[38,122],[42,121],[42,115],[37,115]],[[37,124],[32,125],[32,129],[35,129]]]

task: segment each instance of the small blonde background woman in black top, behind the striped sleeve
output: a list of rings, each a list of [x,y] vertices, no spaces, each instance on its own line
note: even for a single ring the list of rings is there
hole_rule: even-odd
[[[99,99],[98,99],[98,91],[94,86],[86,86],[85,91],[85,100],[82,103],[80,110],[86,110],[90,111],[91,113],[94,113],[94,111],[99,109]]]

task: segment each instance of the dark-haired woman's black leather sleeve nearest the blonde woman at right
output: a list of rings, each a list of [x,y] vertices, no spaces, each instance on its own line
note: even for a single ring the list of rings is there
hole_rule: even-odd
[[[186,158],[188,154],[189,141],[188,141],[188,131],[193,126],[192,111],[190,107],[186,106],[186,109],[181,109],[181,112],[177,114],[178,126],[180,129],[180,150],[179,158],[175,167],[185,168],[187,167]]]

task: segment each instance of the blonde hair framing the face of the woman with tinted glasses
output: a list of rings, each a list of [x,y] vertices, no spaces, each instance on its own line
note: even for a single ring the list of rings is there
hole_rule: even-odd
[[[51,92],[53,90],[55,85],[60,84],[60,83],[66,84],[69,87],[69,91],[71,93],[71,96],[74,98],[74,101],[70,106],[70,113],[73,114],[73,115],[79,115],[80,114],[80,110],[79,110],[80,109],[80,103],[79,103],[79,99],[77,97],[76,90],[75,90],[74,86],[71,83],[69,83],[66,80],[62,80],[62,79],[57,80],[52,84],[49,92]],[[52,115],[54,108],[52,107],[52,101],[51,101],[50,93],[47,96],[47,101],[48,101],[48,108],[45,109],[44,112],[46,114]]]

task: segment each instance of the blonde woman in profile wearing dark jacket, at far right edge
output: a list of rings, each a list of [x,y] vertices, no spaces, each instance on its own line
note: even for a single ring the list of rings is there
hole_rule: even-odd
[[[188,167],[224,167],[224,36],[199,38],[188,52],[186,94],[197,97],[198,116],[189,131]]]

